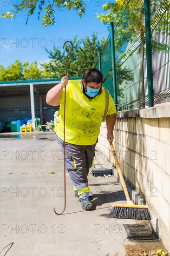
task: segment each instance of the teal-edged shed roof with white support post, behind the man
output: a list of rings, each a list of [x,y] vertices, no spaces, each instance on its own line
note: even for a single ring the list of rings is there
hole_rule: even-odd
[[[71,77],[69,80],[81,80],[81,77]],[[31,98],[31,113],[33,120],[33,129],[35,129],[35,108],[34,108],[34,92],[39,95],[40,119],[43,120],[42,112],[42,95],[59,84],[61,78],[46,80],[27,80],[27,81],[5,81],[0,82],[0,97],[10,96],[28,96]]]

